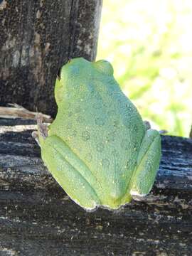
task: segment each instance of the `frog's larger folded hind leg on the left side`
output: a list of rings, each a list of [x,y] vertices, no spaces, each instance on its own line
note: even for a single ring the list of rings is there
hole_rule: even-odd
[[[41,148],[41,154],[55,180],[75,203],[87,210],[97,207],[99,204],[97,194],[82,176],[86,168],[65,142],[56,136],[47,137]]]

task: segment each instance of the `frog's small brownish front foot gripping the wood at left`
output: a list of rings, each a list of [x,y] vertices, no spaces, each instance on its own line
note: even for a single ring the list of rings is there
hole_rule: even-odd
[[[41,146],[39,137],[43,139],[46,139],[46,137],[48,137],[48,124],[43,124],[42,114],[37,114],[36,119],[37,119],[38,131],[32,132],[32,137],[36,140],[38,145]]]

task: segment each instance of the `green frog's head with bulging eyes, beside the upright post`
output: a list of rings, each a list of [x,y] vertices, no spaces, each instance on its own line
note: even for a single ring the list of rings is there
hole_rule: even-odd
[[[80,95],[80,85],[86,86],[94,77],[99,78],[103,75],[113,75],[112,65],[107,60],[96,62],[90,62],[85,58],[69,60],[60,68],[55,82],[55,100],[57,104],[73,92]]]

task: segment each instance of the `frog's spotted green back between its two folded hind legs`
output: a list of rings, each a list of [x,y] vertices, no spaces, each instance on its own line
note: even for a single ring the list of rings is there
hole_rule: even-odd
[[[51,132],[56,130],[97,178],[100,198],[105,193],[117,199],[132,177],[144,124],[112,74],[94,68],[73,78],[73,89],[58,107],[62,125],[53,123]]]

